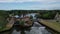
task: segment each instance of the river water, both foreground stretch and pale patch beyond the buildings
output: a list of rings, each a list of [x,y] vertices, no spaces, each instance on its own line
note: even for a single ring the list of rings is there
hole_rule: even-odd
[[[30,16],[30,15],[33,16],[33,19],[36,19],[35,17],[36,13],[27,14],[26,16]],[[24,30],[24,29],[21,30],[15,26],[13,28],[12,34],[51,34],[51,33],[46,30],[46,27],[42,26],[38,22],[34,22],[33,26],[28,30]]]

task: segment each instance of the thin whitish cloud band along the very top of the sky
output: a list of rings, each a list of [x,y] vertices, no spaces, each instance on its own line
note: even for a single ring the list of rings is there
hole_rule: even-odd
[[[0,0],[0,2],[60,2],[60,0]]]

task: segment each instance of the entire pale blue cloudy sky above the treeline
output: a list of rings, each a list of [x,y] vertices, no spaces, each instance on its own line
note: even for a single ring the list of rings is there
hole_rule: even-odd
[[[0,0],[0,10],[60,10],[60,0]]]

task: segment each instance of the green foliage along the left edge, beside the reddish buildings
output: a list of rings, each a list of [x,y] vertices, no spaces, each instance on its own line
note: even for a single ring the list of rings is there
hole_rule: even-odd
[[[8,16],[8,12],[0,11],[0,30],[5,28],[5,25],[7,23],[6,17]]]

